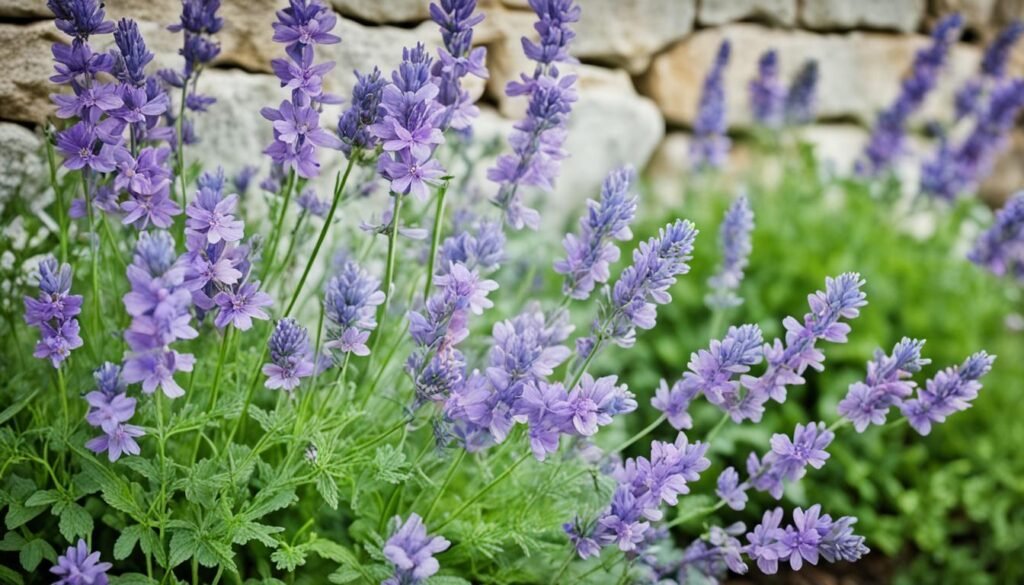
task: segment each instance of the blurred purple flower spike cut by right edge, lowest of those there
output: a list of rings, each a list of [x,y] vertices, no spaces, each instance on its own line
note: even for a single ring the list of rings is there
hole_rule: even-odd
[[[1013,196],[995,214],[968,258],[1000,277],[1024,280],[1024,193]]]

